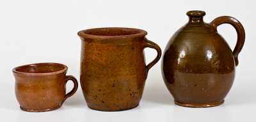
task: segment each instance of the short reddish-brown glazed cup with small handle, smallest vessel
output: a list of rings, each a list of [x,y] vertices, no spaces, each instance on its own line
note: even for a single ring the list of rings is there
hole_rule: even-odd
[[[67,66],[56,63],[29,64],[15,67],[15,95],[20,109],[29,112],[52,111],[77,90],[77,80],[66,76]],[[66,83],[72,80],[74,88],[66,93]]]

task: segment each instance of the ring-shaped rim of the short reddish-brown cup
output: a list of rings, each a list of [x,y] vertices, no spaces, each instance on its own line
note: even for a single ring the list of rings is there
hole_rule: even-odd
[[[60,71],[44,72],[44,73],[42,73],[42,72],[21,72],[21,71],[17,71],[17,69],[19,69],[21,67],[26,67],[26,66],[30,66],[30,65],[45,65],[45,64],[61,65],[64,68],[61,69]],[[61,74],[63,72],[66,72],[67,69],[68,69],[67,65],[64,65],[64,64],[54,63],[54,62],[45,62],[45,63],[35,63],[35,64],[20,65],[18,67],[13,68],[12,72],[13,72],[13,74],[22,74],[22,75],[27,75],[27,76],[49,76],[49,75]]]

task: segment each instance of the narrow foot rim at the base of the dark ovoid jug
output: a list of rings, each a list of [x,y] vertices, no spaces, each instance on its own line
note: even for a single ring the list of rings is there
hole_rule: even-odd
[[[207,103],[207,104],[185,104],[185,103],[177,102],[177,101],[174,101],[174,103],[176,105],[180,105],[182,107],[215,107],[215,106],[223,104],[224,100],[222,100],[221,102],[214,102],[214,103]]]

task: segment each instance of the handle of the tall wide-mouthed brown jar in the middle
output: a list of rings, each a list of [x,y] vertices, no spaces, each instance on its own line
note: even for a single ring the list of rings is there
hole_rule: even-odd
[[[161,55],[162,55],[162,51],[161,51],[161,48],[156,43],[148,40],[147,38],[145,38],[144,48],[153,48],[157,51],[156,58],[154,58],[154,60],[152,62],[150,62],[148,65],[146,65],[146,71],[148,72],[148,70],[159,61],[159,59],[161,58]]]

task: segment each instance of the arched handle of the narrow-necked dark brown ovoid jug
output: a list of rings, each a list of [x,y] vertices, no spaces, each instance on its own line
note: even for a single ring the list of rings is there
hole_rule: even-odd
[[[214,20],[212,20],[212,22],[210,24],[212,25],[213,29],[216,32],[217,32],[218,25],[221,25],[221,24],[230,24],[236,29],[237,43],[233,50],[233,55],[234,55],[235,63],[237,66],[238,65],[238,55],[243,48],[244,40],[245,40],[245,32],[244,32],[243,25],[236,18],[229,17],[229,16],[222,16],[222,17],[215,18]]]

